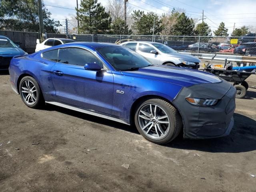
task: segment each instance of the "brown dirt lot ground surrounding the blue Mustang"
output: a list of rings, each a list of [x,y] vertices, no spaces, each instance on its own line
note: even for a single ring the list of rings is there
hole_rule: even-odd
[[[256,191],[256,89],[236,105],[230,136],[160,146],[110,120],[30,109],[1,75],[0,191]]]

